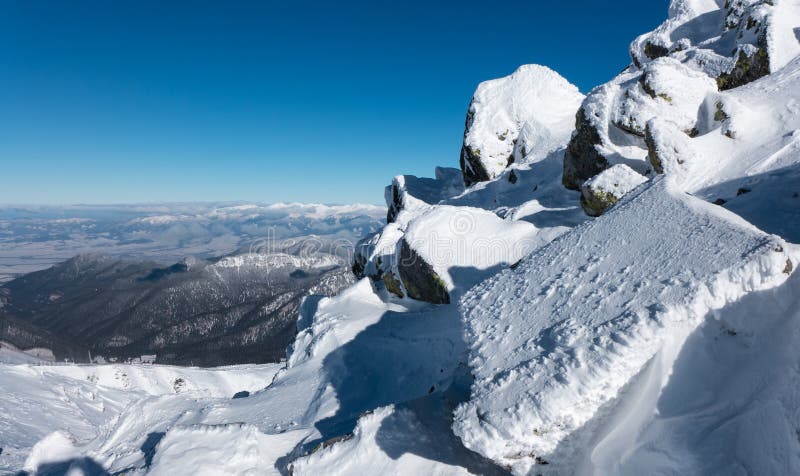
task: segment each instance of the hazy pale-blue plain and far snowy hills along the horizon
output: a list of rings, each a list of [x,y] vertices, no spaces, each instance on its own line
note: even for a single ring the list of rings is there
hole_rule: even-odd
[[[0,206],[0,282],[82,253],[164,264],[311,235],[354,242],[379,229],[385,215],[374,205]]]

